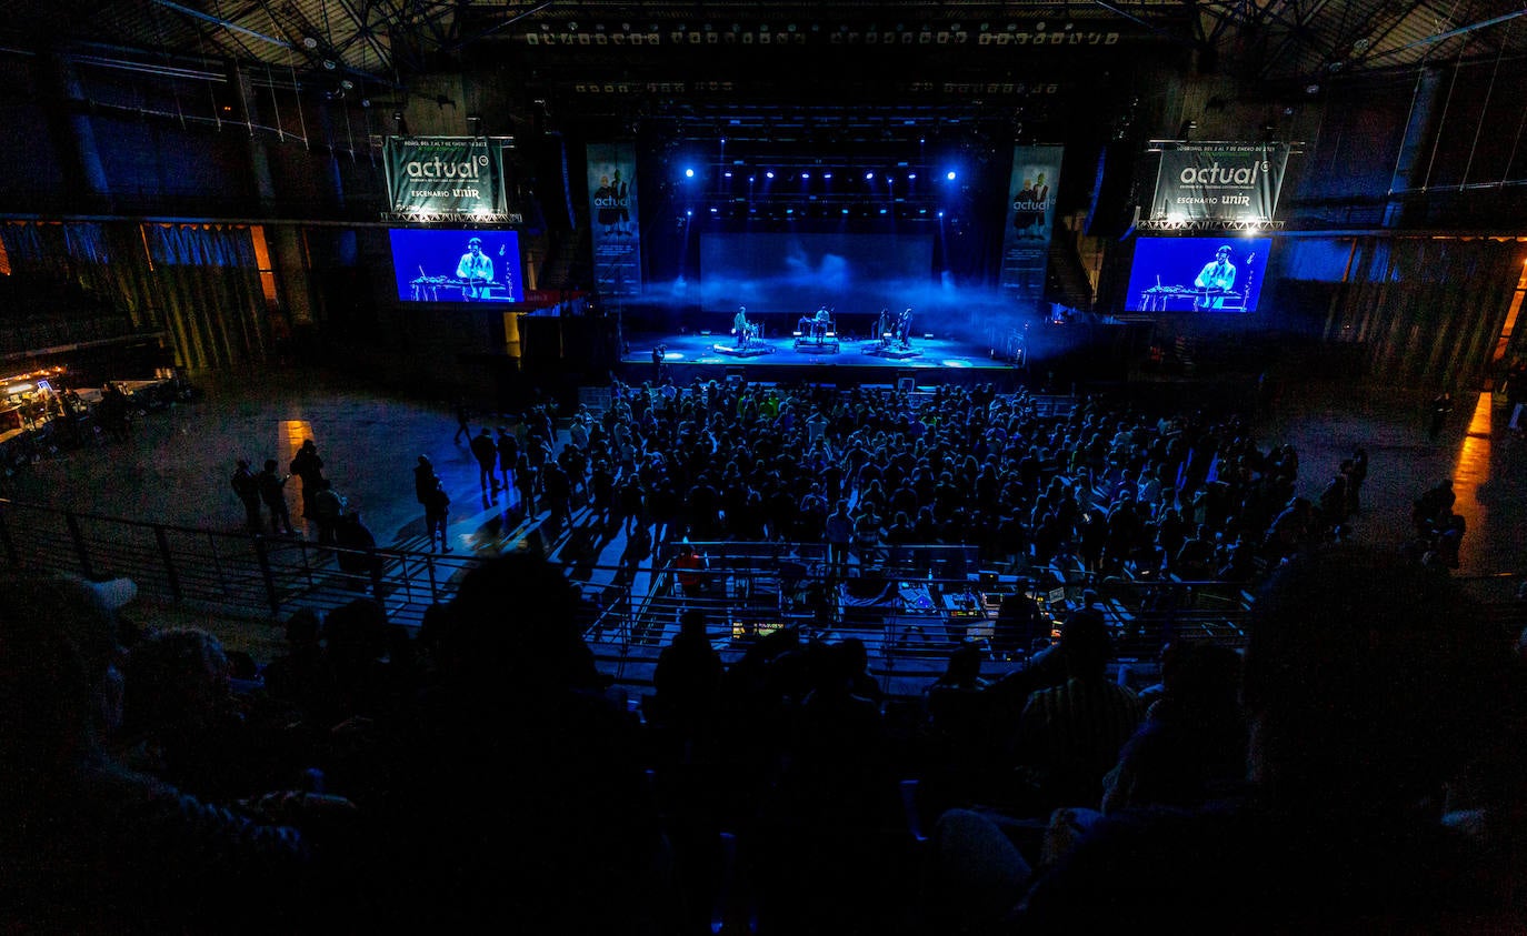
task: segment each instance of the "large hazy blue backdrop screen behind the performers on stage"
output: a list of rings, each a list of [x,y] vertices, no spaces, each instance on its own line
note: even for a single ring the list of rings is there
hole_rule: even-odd
[[[933,235],[702,233],[705,309],[838,313],[906,308],[928,291]]]

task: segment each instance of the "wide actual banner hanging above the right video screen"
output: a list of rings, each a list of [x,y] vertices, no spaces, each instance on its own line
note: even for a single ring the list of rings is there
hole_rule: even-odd
[[[1287,143],[1170,143],[1151,221],[1272,221]]]

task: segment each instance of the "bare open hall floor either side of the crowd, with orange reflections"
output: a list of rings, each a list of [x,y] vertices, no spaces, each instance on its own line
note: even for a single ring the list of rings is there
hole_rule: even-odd
[[[536,535],[518,494],[484,500],[478,470],[447,401],[411,399],[351,378],[301,370],[203,381],[200,399],[140,419],[125,444],[61,451],[29,465],[5,495],[29,503],[188,527],[237,531],[243,511],[229,488],[235,459],[275,457],[282,468],[304,439],[318,444],[325,474],[360,511],[382,546],[426,549],[414,500],[412,468],[434,460],[452,497],[450,543],[464,555],[492,555]],[[1362,445],[1371,457],[1354,538],[1397,547],[1409,534],[1411,502],[1445,477],[1455,482],[1457,511],[1469,532],[1460,575],[1516,573],[1527,563],[1527,439],[1506,428],[1509,413],[1489,395],[1461,401],[1438,439],[1426,433],[1425,399],[1383,390],[1292,387],[1258,425],[1263,447],[1292,442],[1299,451],[1301,494],[1316,497],[1342,457]],[[473,428],[498,427],[478,410]],[[559,445],[560,447],[560,445]],[[301,520],[298,482],[290,485]],[[614,566],[623,541],[603,544]]]

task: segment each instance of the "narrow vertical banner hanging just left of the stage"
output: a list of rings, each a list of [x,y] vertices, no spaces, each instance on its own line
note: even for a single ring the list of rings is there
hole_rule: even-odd
[[[637,148],[588,145],[589,224],[594,229],[594,288],[603,296],[641,293],[641,229],[637,223]]]

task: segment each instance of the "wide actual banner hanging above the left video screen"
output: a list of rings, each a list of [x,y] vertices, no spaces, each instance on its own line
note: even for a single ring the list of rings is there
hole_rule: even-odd
[[[519,224],[508,210],[513,137],[388,137],[385,221]]]

